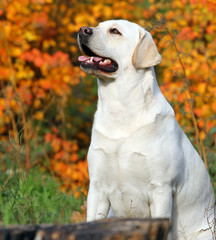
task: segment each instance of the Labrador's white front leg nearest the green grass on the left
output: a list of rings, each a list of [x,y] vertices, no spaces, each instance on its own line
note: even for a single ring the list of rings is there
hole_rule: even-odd
[[[87,199],[87,221],[106,218],[109,208],[110,203],[104,190],[97,182],[91,181]]]

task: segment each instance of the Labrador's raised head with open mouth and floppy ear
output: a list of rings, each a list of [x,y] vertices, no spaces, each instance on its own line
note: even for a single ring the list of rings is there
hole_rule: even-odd
[[[128,68],[133,70],[157,65],[161,56],[151,34],[135,23],[111,20],[96,28],[82,27],[78,44],[81,68],[101,78],[116,78]]]

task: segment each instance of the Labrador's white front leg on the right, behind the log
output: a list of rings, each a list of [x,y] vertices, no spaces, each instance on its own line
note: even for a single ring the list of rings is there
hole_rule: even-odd
[[[151,192],[151,217],[171,219],[172,204],[173,196],[171,186],[155,184]]]

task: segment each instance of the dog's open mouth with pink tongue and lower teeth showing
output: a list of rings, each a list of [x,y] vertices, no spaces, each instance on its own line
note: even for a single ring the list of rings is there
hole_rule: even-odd
[[[83,43],[81,44],[81,49],[82,52],[86,55],[79,56],[78,58],[78,60],[81,62],[81,67],[91,68],[93,70],[101,70],[106,73],[113,73],[117,71],[118,64],[111,58],[98,56]]]

